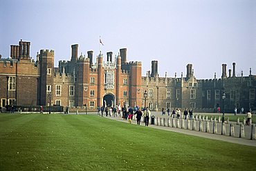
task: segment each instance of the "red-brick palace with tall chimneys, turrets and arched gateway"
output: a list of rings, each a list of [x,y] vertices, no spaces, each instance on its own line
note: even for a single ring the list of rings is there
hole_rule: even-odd
[[[196,79],[192,64],[178,78],[159,77],[158,61],[142,77],[140,61],[127,62],[127,49],[113,57],[107,52],[104,61],[100,52],[93,63],[93,51],[78,56],[78,45],[71,46],[71,60],[59,61],[54,68],[54,50],[40,50],[36,61],[30,57],[30,42],[19,41],[10,46],[10,57],[0,56],[0,99],[5,105],[63,105],[95,108],[102,105],[149,106],[163,108],[226,109],[253,108],[256,110],[256,76],[235,75],[222,65],[221,79]],[[232,73],[231,73],[232,72]],[[147,98],[144,94],[147,92]]]

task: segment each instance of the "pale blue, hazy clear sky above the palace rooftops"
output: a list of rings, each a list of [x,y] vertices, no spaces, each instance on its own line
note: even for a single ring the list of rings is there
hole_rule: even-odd
[[[101,37],[104,46],[100,46]],[[141,61],[143,76],[158,61],[159,77],[186,75],[192,63],[196,79],[221,78],[236,63],[236,75],[256,74],[255,0],[0,0],[0,54],[10,57],[10,45],[31,42],[30,56],[55,50],[58,61],[93,50]]]

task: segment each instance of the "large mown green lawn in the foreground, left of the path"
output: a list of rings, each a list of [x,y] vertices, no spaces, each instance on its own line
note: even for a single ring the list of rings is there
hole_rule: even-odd
[[[255,170],[256,148],[96,115],[0,114],[0,170]]]

